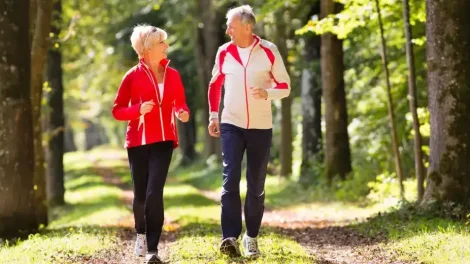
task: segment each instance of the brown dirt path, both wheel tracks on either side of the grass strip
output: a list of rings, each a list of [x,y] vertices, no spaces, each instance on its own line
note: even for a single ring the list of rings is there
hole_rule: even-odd
[[[131,186],[124,184],[112,169],[100,167],[94,163],[94,170],[101,175],[106,183],[118,186],[123,190],[122,201],[132,210],[133,193]],[[220,202],[220,193],[199,190],[200,193],[216,202]],[[318,213],[313,209],[305,210],[272,210],[266,208],[263,226],[269,226],[276,233],[291,237],[305,247],[320,264],[362,264],[362,263],[410,263],[396,260],[393,253],[384,250],[381,245],[386,243],[383,237],[371,238],[353,230],[351,220],[338,221],[315,218]],[[118,232],[116,247],[108,252],[101,252],[93,259],[81,259],[81,263],[143,263],[143,258],[133,255],[135,233],[132,214],[121,219],[117,224]],[[164,232],[159,244],[159,255],[168,260],[171,244],[176,241],[179,227],[166,217]]]

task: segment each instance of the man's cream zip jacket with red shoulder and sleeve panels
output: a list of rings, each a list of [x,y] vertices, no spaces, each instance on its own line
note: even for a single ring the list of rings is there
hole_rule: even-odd
[[[271,100],[289,96],[290,78],[276,45],[256,35],[254,38],[246,66],[234,43],[225,43],[217,51],[209,83],[209,118],[218,118],[224,85],[221,123],[246,129],[269,129],[272,128]],[[267,100],[253,98],[250,87],[266,89]]]

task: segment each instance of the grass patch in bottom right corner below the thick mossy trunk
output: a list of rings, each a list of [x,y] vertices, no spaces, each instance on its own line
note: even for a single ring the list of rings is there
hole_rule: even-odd
[[[470,228],[463,222],[394,210],[355,226],[383,235],[384,247],[401,260],[431,264],[470,263]]]

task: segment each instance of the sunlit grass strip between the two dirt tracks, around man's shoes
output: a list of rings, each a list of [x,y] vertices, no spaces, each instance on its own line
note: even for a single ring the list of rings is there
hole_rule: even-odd
[[[166,214],[181,225],[178,240],[171,245],[171,262],[177,263],[314,263],[304,248],[273,229],[260,235],[262,256],[254,261],[243,257],[230,259],[219,253],[221,241],[220,206],[187,184],[169,184],[165,188]]]

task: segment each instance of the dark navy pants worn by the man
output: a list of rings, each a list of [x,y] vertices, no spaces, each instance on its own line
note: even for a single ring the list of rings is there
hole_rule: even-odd
[[[272,129],[243,129],[230,124],[221,124],[220,136],[224,166],[221,199],[223,238],[238,238],[242,232],[240,179],[245,151],[247,160],[245,224],[248,236],[257,237],[264,213],[264,183]]]

